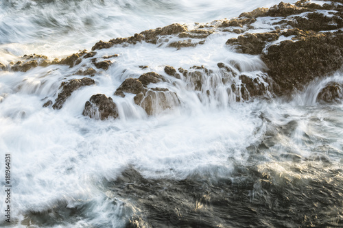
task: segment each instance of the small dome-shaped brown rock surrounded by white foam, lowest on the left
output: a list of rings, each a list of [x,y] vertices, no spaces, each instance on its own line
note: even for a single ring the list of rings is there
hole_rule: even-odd
[[[111,97],[105,94],[95,94],[84,104],[82,115],[90,118],[99,118],[102,121],[106,118],[118,118],[117,105]]]

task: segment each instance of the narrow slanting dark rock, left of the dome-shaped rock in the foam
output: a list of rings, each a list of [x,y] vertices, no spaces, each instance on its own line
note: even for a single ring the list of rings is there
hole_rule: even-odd
[[[62,91],[58,94],[57,99],[55,100],[54,105],[52,106],[55,110],[60,110],[68,97],[71,96],[71,93],[82,86],[91,86],[95,84],[93,79],[84,77],[82,79],[71,79],[67,82],[62,82],[61,86]]]

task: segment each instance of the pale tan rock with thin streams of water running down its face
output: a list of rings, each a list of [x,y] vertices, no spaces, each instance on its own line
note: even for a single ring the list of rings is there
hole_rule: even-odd
[[[134,97],[134,102],[141,105],[148,115],[154,115],[171,109],[180,104],[175,92],[170,92],[166,88],[153,88]]]

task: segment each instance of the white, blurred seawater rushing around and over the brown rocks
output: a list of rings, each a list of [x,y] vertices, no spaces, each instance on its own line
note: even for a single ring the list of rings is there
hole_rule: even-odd
[[[3,0],[0,62],[25,53],[61,57],[98,40],[275,3]],[[314,81],[290,100],[236,103],[217,62],[234,61],[250,77],[259,77],[265,65],[225,47],[233,36],[213,34],[204,45],[180,50],[143,42],[98,51],[119,58],[61,110],[42,105],[56,99],[62,81],[80,78],[73,75],[78,68],[0,71],[0,150],[1,157],[12,155],[12,226],[342,227],[343,105],[316,102],[327,82],[343,82],[342,73]],[[181,105],[154,116],[130,95],[113,96],[124,79],[163,74],[167,64],[210,69],[203,90],[211,95],[170,77],[174,84],[158,86],[176,92]],[[82,116],[97,93],[113,98],[119,119]]]

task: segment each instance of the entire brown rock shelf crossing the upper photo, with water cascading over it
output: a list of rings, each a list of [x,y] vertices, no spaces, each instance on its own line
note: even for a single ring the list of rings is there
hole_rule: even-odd
[[[331,75],[342,68],[342,9],[343,5],[339,0],[327,1],[322,5],[307,0],[298,1],[294,5],[281,2],[269,9],[257,8],[252,12],[241,13],[238,18],[202,25],[196,23],[191,29],[186,25],[172,24],[142,31],[128,38],[115,38],[108,42],[100,40],[92,47],[92,51],[79,51],[62,60],[50,61],[44,55],[24,55],[15,64],[13,62],[7,65],[0,64],[0,69],[27,72],[39,66],[63,64],[70,68],[78,68],[74,75],[94,76],[97,71],[91,68],[91,65],[79,66],[80,63],[91,58],[95,68],[107,71],[115,66],[112,66],[113,60],[106,59],[119,58],[115,53],[106,53],[99,58],[97,56],[101,52],[95,50],[109,49],[116,45],[126,47],[139,42],[152,45],[165,43],[162,48],[193,48],[203,45],[209,36],[213,36],[212,34],[231,32],[238,35],[226,40],[226,47],[234,49],[237,53],[258,55],[266,66],[261,77],[253,78],[246,75],[237,62],[218,62],[216,69],[204,66],[183,69],[165,65],[161,75],[148,72],[137,78],[126,79],[117,90],[114,88],[114,95],[126,97],[126,93],[135,94],[133,102],[143,107],[148,115],[155,114],[154,109],[166,110],[180,104],[175,92],[157,85],[155,88],[151,87],[152,84],[161,82],[175,86],[175,81],[182,80],[187,84],[187,89],[198,92],[200,97],[201,94],[212,96],[215,94],[215,88],[220,85],[226,86],[235,101],[250,101],[255,97],[289,97],[290,94],[303,90],[304,86],[317,77]],[[269,20],[270,31],[256,32],[259,30],[255,27],[255,22],[265,16],[274,18]],[[147,68],[147,66],[139,67],[142,70]],[[209,82],[206,81],[214,80],[214,71],[220,72],[222,79],[212,81],[210,84],[213,88],[209,88]],[[54,109],[60,109],[71,92],[91,84],[95,84],[95,81],[88,77],[62,83],[62,92],[58,94],[52,106]],[[97,109],[100,119],[117,118],[118,114],[115,111],[117,107],[113,99],[102,95],[93,95],[90,101],[87,101],[83,114],[94,117],[96,116],[94,110]],[[320,103],[342,101],[342,85],[332,82],[327,88],[322,88],[317,100]],[[50,105],[51,103],[45,106]],[[111,109],[113,111],[110,112]]]

